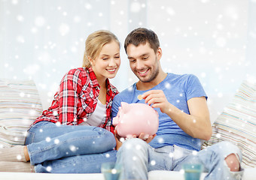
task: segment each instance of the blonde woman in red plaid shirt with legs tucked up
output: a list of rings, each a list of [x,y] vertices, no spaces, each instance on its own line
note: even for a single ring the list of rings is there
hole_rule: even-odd
[[[95,31],[85,46],[83,68],[62,78],[25,145],[0,151],[0,171],[100,172],[101,163],[115,161],[111,104],[118,92],[108,78],[120,66],[120,43],[110,31]]]

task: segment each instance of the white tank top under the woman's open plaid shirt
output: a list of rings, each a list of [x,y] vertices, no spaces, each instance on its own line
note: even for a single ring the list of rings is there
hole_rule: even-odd
[[[106,116],[106,107],[102,104],[99,100],[96,105],[96,109],[94,110],[93,114],[90,115],[89,118],[85,119],[79,125],[90,125],[90,126],[99,126],[102,124],[103,119]]]

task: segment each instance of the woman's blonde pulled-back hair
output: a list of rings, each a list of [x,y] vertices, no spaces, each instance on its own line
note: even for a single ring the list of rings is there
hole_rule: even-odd
[[[82,67],[90,68],[90,60],[95,59],[102,50],[102,46],[106,43],[111,43],[112,40],[115,40],[120,47],[119,40],[111,31],[99,30],[90,34],[85,41],[84,61]]]

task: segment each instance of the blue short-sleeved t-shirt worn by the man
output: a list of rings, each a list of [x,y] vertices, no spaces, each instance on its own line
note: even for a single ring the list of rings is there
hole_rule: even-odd
[[[167,74],[167,77],[161,83],[149,90],[156,89],[163,90],[167,101],[187,114],[190,114],[187,107],[187,101],[190,98],[206,97],[207,99],[206,92],[204,92],[200,80],[192,74]],[[130,88],[120,92],[120,94],[114,97],[111,118],[117,115],[121,102],[128,104],[145,103],[144,99],[139,100],[137,97],[147,91],[137,90],[136,83],[134,83]],[[182,148],[200,151],[200,139],[193,138],[181,130],[172,121],[172,118],[162,113],[159,108],[155,108],[155,110],[159,114],[159,128],[157,130],[157,136],[150,142],[153,148],[160,148],[164,145],[178,145]]]

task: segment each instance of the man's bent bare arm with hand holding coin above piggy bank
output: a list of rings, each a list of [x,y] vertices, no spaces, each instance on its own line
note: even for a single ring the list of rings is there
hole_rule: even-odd
[[[146,104],[152,104],[152,107],[158,107],[162,113],[169,115],[172,121],[175,121],[178,127],[181,127],[188,135],[204,140],[211,138],[212,125],[205,97],[191,98],[187,101],[190,114],[170,104],[161,90],[145,92],[142,98],[145,99]]]

